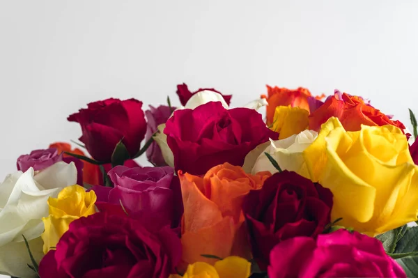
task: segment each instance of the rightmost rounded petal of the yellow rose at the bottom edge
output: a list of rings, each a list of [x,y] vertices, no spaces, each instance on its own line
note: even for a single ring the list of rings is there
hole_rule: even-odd
[[[219,278],[248,278],[251,274],[251,263],[245,258],[229,256],[215,263]]]

